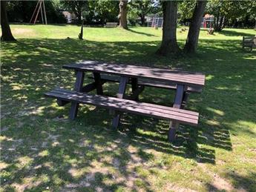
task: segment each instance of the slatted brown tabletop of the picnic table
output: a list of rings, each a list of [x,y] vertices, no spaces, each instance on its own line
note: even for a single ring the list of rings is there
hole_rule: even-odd
[[[205,85],[205,76],[203,74],[180,70],[165,70],[125,64],[108,64],[95,61],[65,64],[63,67],[67,69],[116,74],[119,76],[144,77],[147,79],[158,80],[160,82],[190,85],[191,87],[203,87],[203,85]]]

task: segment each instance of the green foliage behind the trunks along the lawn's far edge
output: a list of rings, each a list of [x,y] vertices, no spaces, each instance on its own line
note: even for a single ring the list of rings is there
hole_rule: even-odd
[[[177,19],[181,24],[191,21],[196,1],[178,1]],[[29,22],[36,1],[7,1],[7,16],[10,22]],[[130,24],[145,26],[145,16],[157,14],[163,16],[163,1],[131,0],[128,2],[128,21]],[[81,24],[84,16],[85,24],[105,24],[119,21],[119,1],[45,1],[47,20],[49,23],[66,23],[62,10],[76,15],[76,23]],[[214,30],[223,27],[256,27],[256,1],[221,1],[210,0],[206,5],[206,13],[214,15]],[[40,16],[39,16],[40,19]],[[138,20],[140,19],[140,20]]]

